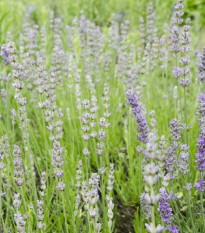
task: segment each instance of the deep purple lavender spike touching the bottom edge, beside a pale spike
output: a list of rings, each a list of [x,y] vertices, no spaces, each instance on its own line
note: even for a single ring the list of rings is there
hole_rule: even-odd
[[[165,188],[160,189],[160,199],[159,199],[159,207],[158,211],[160,212],[162,221],[167,224],[166,229],[169,230],[170,233],[178,233],[179,230],[177,226],[172,226],[172,222],[174,221],[172,208],[169,204],[170,196],[167,194]]]

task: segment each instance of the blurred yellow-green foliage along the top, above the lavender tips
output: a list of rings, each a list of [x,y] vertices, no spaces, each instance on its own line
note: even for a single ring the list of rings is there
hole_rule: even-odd
[[[74,16],[79,16],[81,10],[84,15],[96,24],[104,27],[110,23],[111,13],[125,12],[125,19],[131,22],[131,32],[138,31],[139,17],[145,15],[148,0],[0,0],[0,41],[5,39],[9,30],[12,35],[18,36],[25,12],[34,7],[32,18],[42,25],[48,22],[50,10],[56,16],[63,15],[65,24],[69,24]],[[154,0],[156,22],[169,22],[173,0]],[[205,0],[184,1],[185,16],[191,17],[194,30],[204,34]],[[160,26],[160,25],[159,25]],[[160,28],[160,27],[159,27]]]

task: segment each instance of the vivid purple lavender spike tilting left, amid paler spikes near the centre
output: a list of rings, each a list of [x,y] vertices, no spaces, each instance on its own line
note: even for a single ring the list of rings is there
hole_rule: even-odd
[[[149,127],[146,122],[145,113],[140,106],[139,97],[135,95],[132,90],[127,91],[127,102],[132,108],[133,116],[135,116],[136,118],[137,130],[139,131],[139,134],[137,134],[137,138],[141,142],[146,143],[149,133]]]

